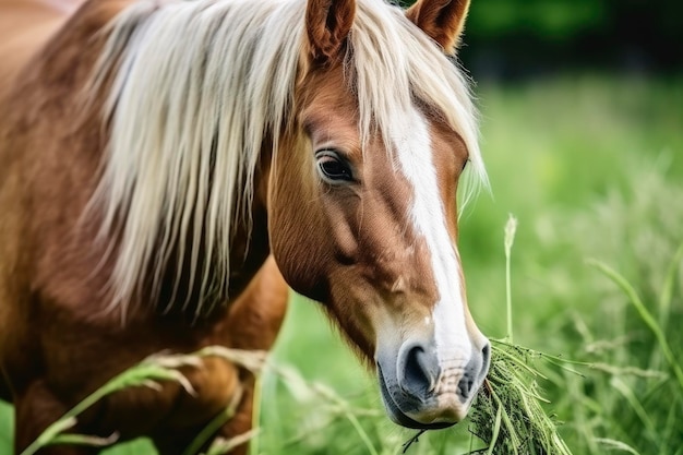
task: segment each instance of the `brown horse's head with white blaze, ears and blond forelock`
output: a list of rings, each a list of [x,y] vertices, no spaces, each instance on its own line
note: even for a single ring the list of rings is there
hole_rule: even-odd
[[[309,0],[271,171],[278,267],[376,367],[390,417],[410,428],[462,420],[489,368],[456,247],[458,181],[468,164],[484,176],[446,56],[468,4]]]

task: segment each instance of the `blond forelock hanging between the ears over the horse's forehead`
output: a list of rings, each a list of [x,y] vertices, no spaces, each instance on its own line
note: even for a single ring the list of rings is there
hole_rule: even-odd
[[[467,201],[488,178],[478,143],[478,116],[469,81],[456,62],[408,21],[399,8],[382,0],[360,1],[350,35],[347,68],[359,98],[361,136],[379,129],[390,137],[409,129],[417,103],[443,117],[463,139],[471,166],[462,194]],[[373,127],[374,125],[374,127]]]

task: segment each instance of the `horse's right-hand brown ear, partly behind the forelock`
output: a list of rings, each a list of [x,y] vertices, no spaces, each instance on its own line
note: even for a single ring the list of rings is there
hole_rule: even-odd
[[[469,0],[418,0],[406,11],[406,15],[439,43],[446,53],[454,53],[468,10]]]

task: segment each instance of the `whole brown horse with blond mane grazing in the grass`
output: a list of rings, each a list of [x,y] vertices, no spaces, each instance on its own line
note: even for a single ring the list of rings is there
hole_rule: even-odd
[[[391,420],[464,419],[490,358],[457,249],[456,193],[487,184],[454,62],[468,8],[1,0],[0,397],[14,450],[151,355],[269,349],[290,289],[375,372]],[[178,454],[235,399],[214,436],[251,428],[250,371],[214,356],[181,372],[191,391],[116,392],[71,431]]]

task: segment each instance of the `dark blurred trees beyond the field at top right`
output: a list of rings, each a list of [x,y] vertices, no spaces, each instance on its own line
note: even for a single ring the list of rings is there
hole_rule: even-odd
[[[675,0],[475,0],[460,58],[476,79],[680,71],[682,16]]]

